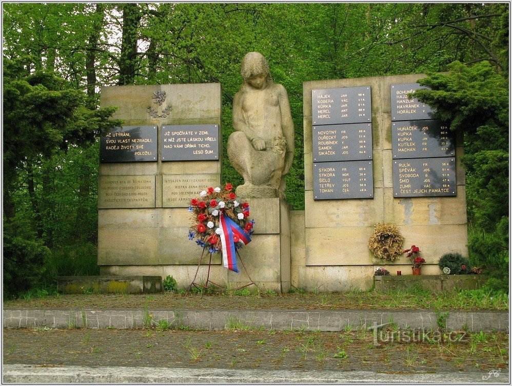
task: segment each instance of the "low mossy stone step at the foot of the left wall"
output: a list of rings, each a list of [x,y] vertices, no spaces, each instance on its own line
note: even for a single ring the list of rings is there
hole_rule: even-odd
[[[149,294],[162,292],[161,276],[59,276],[57,291],[65,294]]]

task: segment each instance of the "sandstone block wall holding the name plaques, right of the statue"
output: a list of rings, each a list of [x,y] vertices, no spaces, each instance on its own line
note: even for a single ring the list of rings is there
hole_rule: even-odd
[[[367,290],[377,266],[392,274],[411,274],[400,257],[389,264],[376,259],[367,243],[378,222],[398,225],[404,247],[418,245],[427,264],[423,275],[439,274],[437,263],[447,252],[467,256],[466,191],[462,134],[456,134],[456,197],[393,198],[390,85],[416,83],[422,74],[305,82],[305,211],[292,213],[292,229],[304,222],[304,233],[292,233],[292,285],[323,291]],[[373,199],[313,200],[311,90],[371,86]]]

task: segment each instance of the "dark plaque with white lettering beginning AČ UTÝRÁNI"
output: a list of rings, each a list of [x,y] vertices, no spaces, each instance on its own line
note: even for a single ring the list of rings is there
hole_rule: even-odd
[[[114,127],[100,139],[101,162],[156,162],[156,126]]]

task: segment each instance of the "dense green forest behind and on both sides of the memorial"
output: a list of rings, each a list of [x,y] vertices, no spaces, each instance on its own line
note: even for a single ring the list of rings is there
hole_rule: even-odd
[[[464,131],[472,264],[508,288],[508,4],[3,4],[4,294],[97,274],[101,86],[221,83],[248,51],[288,91],[304,208],[302,82],[450,71],[420,96]],[[455,62],[455,63],[454,63]],[[226,152],[224,152],[226,154]],[[242,183],[223,159],[223,180]]]

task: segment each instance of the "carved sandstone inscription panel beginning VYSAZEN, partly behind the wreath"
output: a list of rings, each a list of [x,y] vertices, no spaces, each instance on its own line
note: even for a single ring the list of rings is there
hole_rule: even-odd
[[[172,174],[162,176],[162,206],[185,208],[190,199],[210,186],[220,186],[220,174]]]

